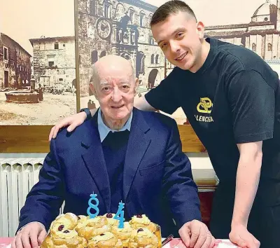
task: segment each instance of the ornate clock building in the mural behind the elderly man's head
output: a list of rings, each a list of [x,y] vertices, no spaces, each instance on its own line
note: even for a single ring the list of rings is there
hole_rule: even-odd
[[[80,95],[90,94],[90,68],[100,57],[116,54],[131,60],[140,88],[158,85],[169,74],[149,23],[156,6],[139,0],[79,0]]]

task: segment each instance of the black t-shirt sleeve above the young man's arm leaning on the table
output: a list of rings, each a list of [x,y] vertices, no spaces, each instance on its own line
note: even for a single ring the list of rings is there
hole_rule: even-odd
[[[275,92],[258,71],[241,71],[228,85],[237,144],[273,137]]]

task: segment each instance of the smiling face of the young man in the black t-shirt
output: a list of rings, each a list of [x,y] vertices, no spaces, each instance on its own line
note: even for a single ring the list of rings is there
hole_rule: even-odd
[[[197,23],[188,13],[179,12],[153,25],[151,29],[155,41],[170,63],[194,72],[202,66],[202,22]]]

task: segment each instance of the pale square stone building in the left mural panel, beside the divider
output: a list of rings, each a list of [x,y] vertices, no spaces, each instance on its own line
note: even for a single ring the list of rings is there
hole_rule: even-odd
[[[33,46],[33,73],[36,87],[46,92],[61,93],[75,86],[75,37],[44,37],[30,39]]]

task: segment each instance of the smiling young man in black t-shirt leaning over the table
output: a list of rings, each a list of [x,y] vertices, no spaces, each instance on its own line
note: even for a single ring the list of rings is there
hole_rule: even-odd
[[[203,23],[183,1],[160,6],[151,29],[176,67],[134,106],[183,108],[220,180],[211,213],[215,237],[230,237],[239,247],[280,247],[278,75],[251,50],[204,39]],[[85,113],[66,118],[50,137],[84,120]]]

